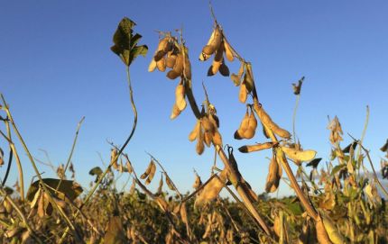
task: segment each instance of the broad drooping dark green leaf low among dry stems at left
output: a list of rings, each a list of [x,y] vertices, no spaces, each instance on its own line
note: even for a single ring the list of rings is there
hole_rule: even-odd
[[[42,181],[47,186],[50,193],[56,195],[61,200],[65,200],[65,195],[66,195],[70,201],[73,201],[83,191],[82,187],[78,183],[74,182],[73,180],[62,180],[60,183],[60,179],[44,178],[42,179]],[[58,189],[58,192],[55,193],[55,189],[57,189],[59,183],[60,183],[60,188]],[[32,202],[33,196],[36,194],[36,192],[40,187],[39,184],[40,184],[40,181],[37,180],[34,183],[32,183],[32,185],[30,185],[30,188],[27,191],[28,201]]]

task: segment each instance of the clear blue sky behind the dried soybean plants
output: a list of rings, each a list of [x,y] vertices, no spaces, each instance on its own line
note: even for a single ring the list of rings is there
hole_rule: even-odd
[[[213,6],[228,40],[253,63],[259,98],[275,122],[291,131],[291,83],[305,76],[297,117],[304,148],[328,158],[328,115],[338,116],[345,133],[360,137],[369,105],[365,146],[379,167],[383,153],[378,149],[388,137],[386,1],[214,1]],[[135,32],[150,48],[131,67],[139,126],[126,152],[138,173],[149,162],[146,150],[185,192],[194,180],[192,168],[206,179],[213,157],[210,149],[197,156],[195,143],[187,139],[195,123],[189,109],[169,119],[178,81],[147,72],[158,41],[155,30],[184,28],[195,95],[201,102],[204,81],[224,142],[238,148],[263,141],[260,132],[253,140],[233,139],[245,113],[238,88],[229,78],[207,77],[210,63],[197,60],[212,31],[208,1],[1,1],[0,92],[34,156],[43,159],[39,149],[46,149],[55,164],[64,163],[76,125],[86,116],[73,157],[77,179],[86,186],[92,180],[88,170],[102,167],[97,152],[109,158],[106,140],[125,141],[133,122],[125,67],[109,50],[124,16],[137,23]],[[237,62],[228,65],[231,71],[238,69]],[[344,138],[345,146],[350,139]],[[3,140],[0,145],[5,148]],[[263,192],[267,156],[236,151],[240,170],[258,193]],[[22,159],[29,182],[32,167],[24,155]],[[40,168],[52,175],[50,168]],[[16,167],[12,170],[9,184],[17,176]],[[4,173],[5,167],[0,168]],[[281,191],[287,193],[288,186],[282,183]]]

